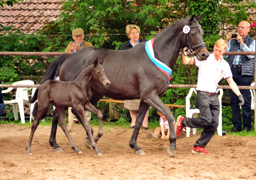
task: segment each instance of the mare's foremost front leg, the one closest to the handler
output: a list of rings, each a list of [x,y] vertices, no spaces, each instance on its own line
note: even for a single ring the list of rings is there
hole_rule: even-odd
[[[159,111],[162,113],[166,119],[168,120],[169,129],[170,129],[170,145],[168,146],[168,153],[174,157],[176,154],[176,133],[174,130],[174,117],[172,115],[172,112],[164,105],[164,103],[161,101],[161,99],[158,97],[158,95],[150,95],[150,99],[144,100],[146,103],[148,103],[150,106],[152,106],[156,111]]]

